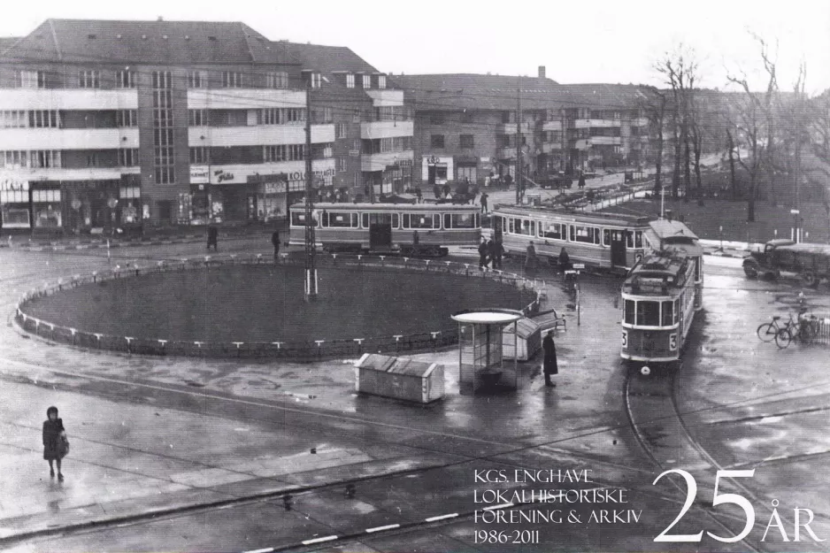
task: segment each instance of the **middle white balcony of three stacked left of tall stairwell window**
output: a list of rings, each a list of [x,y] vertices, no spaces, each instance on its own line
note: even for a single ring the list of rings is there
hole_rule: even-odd
[[[138,148],[137,128],[6,128],[0,150],[118,150]]]

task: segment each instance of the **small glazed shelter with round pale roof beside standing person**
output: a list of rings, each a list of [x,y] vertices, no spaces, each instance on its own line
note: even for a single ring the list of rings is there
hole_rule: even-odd
[[[504,329],[512,326],[513,347],[518,348],[516,323],[521,311],[478,309],[458,311],[458,384],[461,393],[498,392],[519,388],[519,367],[514,358],[504,363]],[[515,354],[514,354],[515,355]]]

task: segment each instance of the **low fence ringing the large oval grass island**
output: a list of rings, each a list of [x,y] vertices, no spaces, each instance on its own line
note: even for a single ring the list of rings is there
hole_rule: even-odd
[[[470,279],[496,280],[527,292],[533,298],[520,310],[528,317],[539,311],[545,296],[545,282],[543,280],[530,280],[519,274],[494,269],[481,270],[478,265],[469,263],[413,257],[324,253],[317,254],[316,261],[319,268],[363,268],[426,272],[458,275]],[[128,355],[314,361],[324,358],[359,357],[367,352],[415,353],[446,348],[458,342],[457,325],[450,323],[450,321],[448,321],[447,326],[418,334],[357,336],[334,340],[326,336],[319,336],[319,339],[305,342],[250,342],[242,340],[212,342],[93,333],[78,328],[60,326],[47,320],[38,319],[26,312],[27,303],[32,300],[51,296],[65,289],[96,284],[105,280],[134,278],[151,273],[206,270],[223,265],[304,266],[304,257],[302,255],[282,254],[279,260],[275,260],[262,254],[230,254],[227,256],[182,257],[159,261],[155,265],[115,265],[105,271],[96,271],[87,275],[76,274],[70,278],[58,279],[57,282],[27,292],[19,300],[14,319],[26,332],[36,334],[46,340],[66,343],[77,348],[108,350]]]

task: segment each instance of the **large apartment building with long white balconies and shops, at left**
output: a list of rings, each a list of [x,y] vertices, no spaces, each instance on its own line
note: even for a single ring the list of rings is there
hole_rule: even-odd
[[[4,232],[268,222],[304,196],[307,156],[343,199],[411,165],[403,91],[348,49],[161,19],[49,19],[3,48]]]

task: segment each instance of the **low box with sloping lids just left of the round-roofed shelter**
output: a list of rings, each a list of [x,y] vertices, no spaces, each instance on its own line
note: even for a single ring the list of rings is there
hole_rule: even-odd
[[[365,353],[355,364],[355,389],[362,394],[432,403],[444,396],[444,367]]]

